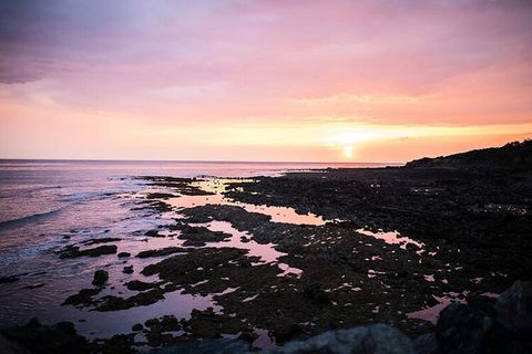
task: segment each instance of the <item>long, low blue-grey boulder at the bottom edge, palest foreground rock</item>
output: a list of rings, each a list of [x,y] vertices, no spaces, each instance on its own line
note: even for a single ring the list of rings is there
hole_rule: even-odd
[[[301,342],[288,342],[283,347],[267,350],[270,354],[415,354],[410,340],[387,324],[358,326],[321,333]]]

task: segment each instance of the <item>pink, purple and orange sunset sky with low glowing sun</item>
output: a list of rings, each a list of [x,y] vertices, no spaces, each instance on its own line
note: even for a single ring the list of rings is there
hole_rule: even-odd
[[[532,137],[532,1],[1,1],[0,158],[402,163]]]

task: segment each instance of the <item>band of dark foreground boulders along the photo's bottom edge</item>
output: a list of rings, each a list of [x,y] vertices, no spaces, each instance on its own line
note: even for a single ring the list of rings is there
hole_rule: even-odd
[[[268,354],[304,353],[379,353],[379,354],[443,354],[443,353],[530,353],[532,351],[532,283],[515,282],[503,292],[494,305],[472,301],[451,304],[439,316],[433,332],[410,340],[388,324],[371,324],[346,330],[332,330],[282,347],[266,350]],[[213,337],[214,314],[193,311],[193,319],[206,322],[178,321],[166,315],[133,326],[143,332],[147,344],[160,350],[152,353],[252,353],[250,334],[237,339]],[[198,326],[204,340],[175,339],[170,334],[184,326]],[[0,348],[6,354],[29,353],[135,353],[134,333],[115,335],[106,341],[89,342],[76,334],[74,324],[61,322],[42,325],[32,319],[27,325],[0,330]],[[164,346],[163,346],[164,345]],[[255,352],[255,351],[253,351]]]

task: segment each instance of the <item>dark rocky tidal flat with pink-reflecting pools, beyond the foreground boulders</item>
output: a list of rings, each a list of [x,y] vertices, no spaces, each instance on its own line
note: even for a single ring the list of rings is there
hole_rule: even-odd
[[[530,242],[523,240],[530,235],[530,209],[526,201],[515,207],[523,206],[532,186],[526,173],[395,167],[250,180],[137,178],[149,189],[134,196],[135,208],[167,221],[143,236],[158,247],[141,254],[149,249],[131,248],[127,237],[95,238],[95,247],[69,239],[60,257],[119,254],[134,266],[134,274],[122,284],[72,293],[66,306],[116,314],[144,309],[147,315],[151,305],[177,294],[177,304],[183,295],[211,296],[217,308],[191,309],[191,316],[177,317],[178,335],[152,334],[143,326],[143,342],[139,332],[127,331],[129,347],[246,334],[252,346],[265,348],[380,322],[416,337],[433,331],[444,305],[493,304],[515,280],[530,279]],[[493,228],[487,230],[487,220]],[[100,242],[117,248],[102,249]],[[94,248],[94,254],[86,253]],[[130,257],[121,258],[124,250]],[[125,272],[127,264],[116,267]],[[127,291],[113,292],[115,287]]]

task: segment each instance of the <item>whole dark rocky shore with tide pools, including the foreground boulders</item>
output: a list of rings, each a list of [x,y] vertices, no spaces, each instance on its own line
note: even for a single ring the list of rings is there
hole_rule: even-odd
[[[116,284],[102,268],[92,288],[64,305],[120,312],[172,294],[213,305],[142,321],[105,340],[33,320],[2,330],[2,345],[45,353],[39,341],[68,335],[65,352],[54,353],[74,344],[79,353],[345,353],[334,343],[346,339],[375,344],[352,353],[531,348],[531,290],[516,282],[532,280],[530,171],[408,167],[142,180],[153,190],[135,208],[172,220],[144,237],[168,244],[134,253],[122,248],[126,236],[66,240],[58,258],[119,258],[132,278]],[[290,210],[310,222],[290,219]],[[519,296],[500,295],[512,284]],[[126,292],[113,292],[119,285]],[[524,302],[518,311],[501,301]],[[490,342],[493,335],[500,340]],[[391,339],[397,350],[383,344]]]

